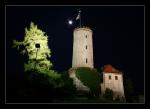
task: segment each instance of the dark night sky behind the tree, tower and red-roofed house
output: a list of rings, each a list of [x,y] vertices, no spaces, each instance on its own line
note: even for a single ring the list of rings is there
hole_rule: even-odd
[[[112,64],[131,78],[137,92],[144,90],[144,7],[143,6],[7,6],[7,74],[23,70],[24,58],[12,49],[12,40],[23,40],[24,28],[33,21],[49,36],[53,69],[72,66],[73,29],[82,10],[82,25],[93,30],[94,66]],[[72,19],[74,25],[67,24]]]

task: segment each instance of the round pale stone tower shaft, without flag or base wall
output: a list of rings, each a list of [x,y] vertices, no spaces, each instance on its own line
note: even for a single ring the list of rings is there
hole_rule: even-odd
[[[88,27],[75,28],[73,33],[72,67],[93,68],[92,30]]]

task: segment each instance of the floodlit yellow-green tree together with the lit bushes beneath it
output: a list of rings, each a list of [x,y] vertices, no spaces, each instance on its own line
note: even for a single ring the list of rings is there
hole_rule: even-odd
[[[25,36],[23,41],[13,40],[14,46],[22,54],[27,54],[28,62],[24,65],[25,72],[36,71],[45,73],[50,77],[59,78],[55,71],[50,70],[52,63],[50,62],[51,50],[48,47],[48,36],[45,32],[38,29],[33,22],[30,28],[25,28]]]

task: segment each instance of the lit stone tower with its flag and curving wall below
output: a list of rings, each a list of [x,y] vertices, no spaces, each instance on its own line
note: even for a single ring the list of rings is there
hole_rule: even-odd
[[[81,26],[81,11],[79,11],[76,20],[78,19],[80,19],[80,27],[75,28],[73,32],[73,57],[72,68],[69,69],[69,77],[73,79],[73,83],[79,92],[89,93],[90,88],[80,80],[80,77],[77,77],[76,70],[79,67],[94,67],[93,32],[90,28]]]

